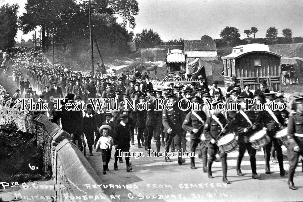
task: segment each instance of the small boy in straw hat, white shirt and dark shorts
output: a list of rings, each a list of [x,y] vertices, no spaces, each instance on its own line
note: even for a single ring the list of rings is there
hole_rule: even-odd
[[[102,134],[102,136],[99,138],[97,142],[96,151],[101,149],[103,174],[106,174],[106,171],[109,171],[108,163],[111,159],[112,145],[114,142],[113,138],[109,136],[109,134],[112,134],[112,127],[110,127],[109,125],[102,125],[99,128],[99,133]]]

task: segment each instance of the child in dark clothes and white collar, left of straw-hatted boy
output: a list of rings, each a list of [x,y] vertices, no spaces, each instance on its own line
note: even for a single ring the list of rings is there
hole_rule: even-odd
[[[86,114],[83,117],[83,133],[85,134],[87,140],[87,146],[89,149],[89,155],[93,156],[92,147],[95,141],[95,129],[97,128],[96,119],[92,114],[92,105],[88,104],[86,106]]]

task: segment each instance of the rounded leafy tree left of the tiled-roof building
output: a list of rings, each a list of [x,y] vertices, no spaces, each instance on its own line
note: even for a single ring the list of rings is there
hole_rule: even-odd
[[[161,40],[158,32],[149,29],[143,29],[141,33],[135,35],[136,46],[140,48],[151,48],[154,45],[162,45],[163,41]]]

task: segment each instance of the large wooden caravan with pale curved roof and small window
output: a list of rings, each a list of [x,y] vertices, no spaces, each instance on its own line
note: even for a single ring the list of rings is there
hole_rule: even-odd
[[[260,80],[267,80],[271,91],[279,91],[281,84],[281,55],[269,51],[268,45],[248,44],[232,48],[232,53],[222,57],[225,87],[232,84],[236,76],[239,84],[251,84],[251,89],[259,88]]]

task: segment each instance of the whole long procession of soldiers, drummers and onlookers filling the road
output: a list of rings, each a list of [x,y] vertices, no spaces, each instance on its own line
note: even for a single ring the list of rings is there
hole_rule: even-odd
[[[52,65],[42,54],[35,49],[17,48],[10,53],[9,64],[12,69],[12,79],[20,86],[13,98],[33,98],[37,102],[48,102],[49,115],[52,122],[62,125],[62,129],[70,134],[75,134],[81,147],[80,135],[87,139],[90,156],[93,156],[93,148],[102,152],[103,173],[108,171],[108,162],[112,147],[116,148],[114,169],[118,170],[117,149],[129,152],[131,145],[143,150],[151,149],[151,142],[155,142],[155,150],[158,153],[161,146],[165,151],[186,152],[186,134],[190,135],[189,151],[198,149],[199,157],[203,160],[203,172],[213,178],[211,166],[213,161],[221,161],[223,170],[223,182],[230,183],[227,179],[227,154],[220,151],[218,139],[224,134],[236,134],[239,155],[236,171],[241,172],[241,161],[248,151],[253,179],[261,179],[256,169],[256,148],[249,138],[258,131],[266,131],[268,144],[263,147],[265,157],[265,173],[271,174],[270,161],[275,161],[275,152],[280,168],[280,176],[285,176],[283,165],[282,142],[275,134],[283,127],[288,127],[289,144],[285,144],[288,151],[289,171],[288,185],[290,189],[296,189],[293,183],[295,168],[299,156],[303,155],[303,95],[298,94],[290,103],[285,103],[283,94],[276,96],[268,89],[266,80],[261,80],[260,88],[254,93],[250,90],[250,84],[244,84],[244,89],[238,85],[238,79],[232,77],[233,84],[222,94],[218,87],[218,81],[213,81],[209,89],[203,76],[198,77],[198,83],[191,82],[186,85],[174,86],[171,83],[166,89],[155,89],[148,75],[143,75],[136,69],[133,74],[119,74],[118,77],[107,77],[97,72],[86,76],[80,71],[64,71],[61,65]],[[95,77],[94,77],[95,75]],[[24,81],[24,78],[26,81]],[[39,95],[32,89],[38,89]],[[21,94],[19,94],[19,91]],[[40,93],[41,92],[41,93]],[[84,102],[86,110],[55,111],[58,103],[52,103],[52,98],[65,98],[62,105],[73,102]],[[101,109],[92,108],[89,98],[118,98],[119,110],[110,111],[106,105]],[[150,110],[125,109],[125,100],[135,98],[135,103],[148,102]],[[170,110],[156,111],[155,98],[162,98],[165,103],[172,105]],[[191,103],[198,103],[200,109],[182,111],[177,103],[186,98]],[[247,99],[253,98],[258,103],[272,103],[284,106],[285,110],[256,111],[254,106],[250,110],[244,110]],[[186,101],[181,102],[185,105]],[[210,101],[210,102],[209,102]],[[211,103],[211,106],[209,105]],[[239,103],[233,110],[221,110],[218,103],[232,105]],[[186,108],[186,107],[185,107]],[[60,121],[60,122],[59,122]],[[201,141],[201,138],[205,141]],[[220,160],[216,158],[219,154]],[[132,170],[129,157],[125,157],[127,171]],[[165,156],[166,162],[171,162]],[[178,164],[185,162],[182,156],[178,157]],[[303,160],[301,160],[303,162]],[[191,157],[191,169],[195,167],[195,157]],[[303,172],[303,168],[302,168]]]

